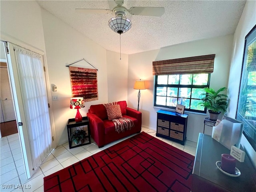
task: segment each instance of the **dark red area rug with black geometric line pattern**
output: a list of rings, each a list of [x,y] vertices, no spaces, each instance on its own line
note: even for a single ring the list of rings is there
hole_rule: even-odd
[[[141,132],[44,178],[45,192],[190,192],[194,156]]]

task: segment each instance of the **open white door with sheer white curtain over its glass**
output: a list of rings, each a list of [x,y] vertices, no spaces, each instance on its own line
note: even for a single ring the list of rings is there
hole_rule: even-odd
[[[39,169],[52,150],[54,137],[46,88],[44,52],[22,42],[21,45],[23,47],[4,42],[19,145],[28,179]]]

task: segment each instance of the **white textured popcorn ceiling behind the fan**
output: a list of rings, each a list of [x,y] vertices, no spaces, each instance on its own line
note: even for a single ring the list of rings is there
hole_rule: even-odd
[[[113,14],[81,14],[75,8],[112,10],[112,1],[43,0],[38,4],[106,50],[120,51],[119,34],[108,26]],[[127,14],[132,22],[129,31],[121,34],[124,54],[134,54],[162,47],[234,34],[246,1],[195,0],[124,0],[123,6],[164,7],[161,17]]]

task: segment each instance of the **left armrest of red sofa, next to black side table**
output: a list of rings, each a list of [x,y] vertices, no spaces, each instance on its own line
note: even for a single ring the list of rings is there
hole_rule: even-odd
[[[95,114],[87,113],[91,136],[100,147],[104,145],[104,122]]]

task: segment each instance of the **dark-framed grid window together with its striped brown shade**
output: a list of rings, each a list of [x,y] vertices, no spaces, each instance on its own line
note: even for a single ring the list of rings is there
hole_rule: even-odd
[[[186,111],[206,113],[199,102],[203,89],[209,87],[214,58],[215,54],[211,54],[153,61],[154,106],[175,109],[181,104]]]

